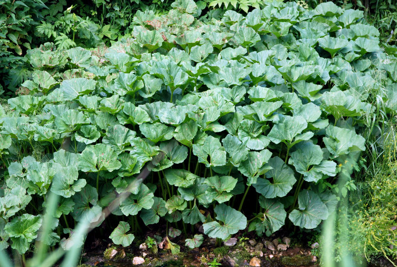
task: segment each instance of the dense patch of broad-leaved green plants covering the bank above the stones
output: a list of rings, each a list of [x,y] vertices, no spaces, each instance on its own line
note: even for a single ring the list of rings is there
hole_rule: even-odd
[[[194,1],[171,6],[138,11],[132,37],[110,47],[27,52],[27,94],[0,106],[2,249],[29,250],[49,192],[61,199],[50,246],[68,248],[76,223],[101,222],[129,191],[103,222],[115,244],[172,224],[194,248],[202,236],[189,224],[218,243],[244,229],[318,228],[356,188],[335,181],[365,150],[380,81],[382,112],[397,110],[395,50],[381,51],[362,11],[274,1],[203,23]]]

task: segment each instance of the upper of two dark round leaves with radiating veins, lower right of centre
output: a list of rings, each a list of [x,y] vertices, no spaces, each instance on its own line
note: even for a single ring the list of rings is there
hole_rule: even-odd
[[[255,189],[266,198],[287,195],[296,182],[294,171],[279,157],[271,158],[267,164],[272,169],[265,174],[267,179],[258,178],[253,184]],[[272,181],[269,178],[273,178]]]

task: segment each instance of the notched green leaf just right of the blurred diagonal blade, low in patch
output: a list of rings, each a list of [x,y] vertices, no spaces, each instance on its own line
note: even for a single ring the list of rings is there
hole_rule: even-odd
[[[141,183],[138,193],[131,194],[124,200],[120,205],[120,209],[126,216],[136,215],[142,208],[150,209],[153,203],[153,192],[145,184]]]

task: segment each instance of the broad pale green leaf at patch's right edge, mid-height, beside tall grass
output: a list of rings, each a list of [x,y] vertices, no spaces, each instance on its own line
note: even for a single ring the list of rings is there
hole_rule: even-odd
[[[365,138],[356,134],[354,130],[329,125],[326,135],[323,141],[333,158],[349,152],[365,150]]]

